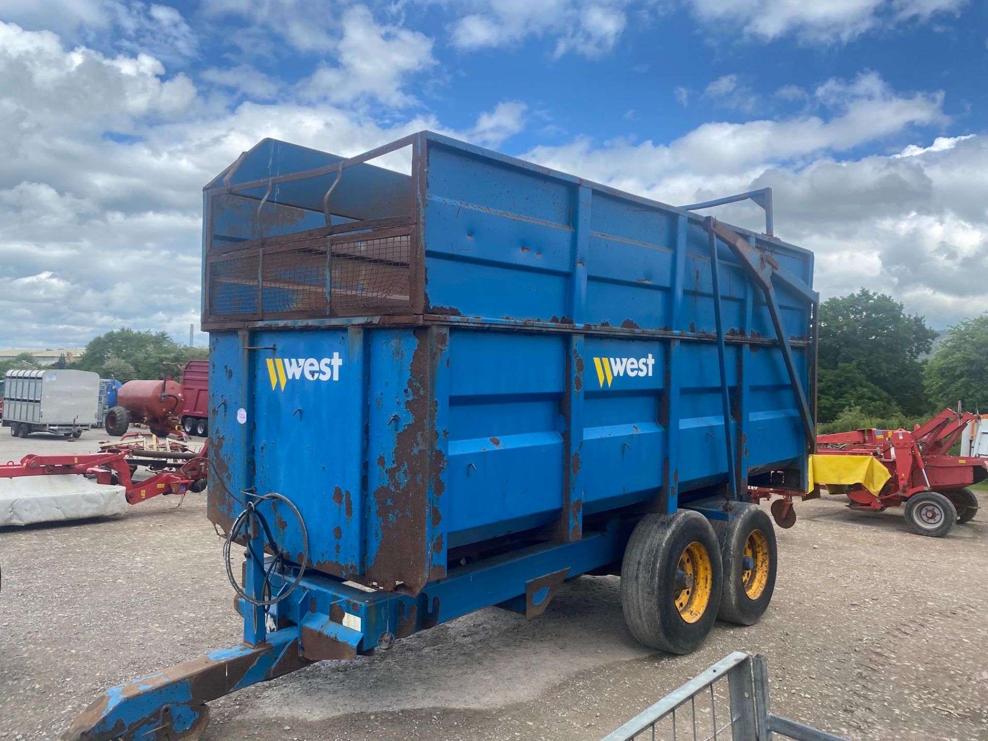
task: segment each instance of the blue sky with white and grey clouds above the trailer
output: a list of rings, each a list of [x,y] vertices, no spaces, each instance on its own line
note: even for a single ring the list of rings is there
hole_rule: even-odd
[[[672,204],[772,186],[825,297],[943,328],[988,309],[986,73],[985,0],[0,0],[0,347],[187,336],[206,181],[422,128]]]

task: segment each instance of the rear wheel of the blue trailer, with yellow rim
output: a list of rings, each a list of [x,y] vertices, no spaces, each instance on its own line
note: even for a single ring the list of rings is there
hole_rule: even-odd
[[[776,590],[779,549],[772,518],[754,504],[739,504],[731,522],[710,523],[717,534],[724,588],[717,617],[753,625],[769,609]]]

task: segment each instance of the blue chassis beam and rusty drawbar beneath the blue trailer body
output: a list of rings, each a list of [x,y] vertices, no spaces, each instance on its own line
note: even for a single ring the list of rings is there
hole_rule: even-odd
[[[539,543],[451,569],[415,596],[367,591],[306,571],[288,598],[270,608],[268,621],[280,629],[263,642],[213,651],[111,688],[61,741],[195,741],[208,723],[206,702],[312,662],[387,649],[397,638],[484,607],[535,617],[565,579],[620,561],[636,522],[616,519],[580,540]],[[273,574],[272,592],[293,578],[290,567]],[[253,605],[236,602],[241,615],[252,614]]]

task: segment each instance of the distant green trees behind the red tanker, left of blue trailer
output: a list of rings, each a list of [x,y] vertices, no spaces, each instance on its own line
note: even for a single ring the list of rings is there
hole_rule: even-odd
[[[86,354],[74,368],[96,371],[104,378],[116,377],[118,380],[160,378],[164,373],[180,378],[188,360],[206,357],[206,348],[179,345],[167,332],[139,332],[121,327],[90,340]],[[129,378],[115,373],[129,375]]]

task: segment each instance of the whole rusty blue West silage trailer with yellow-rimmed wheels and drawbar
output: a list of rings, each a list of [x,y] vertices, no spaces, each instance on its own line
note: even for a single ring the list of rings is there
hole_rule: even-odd
[[[740,500],[809,488],[809,252],[431,132],[351,159],[265,139],[204,212],[208,516],[248,548],[244,642],[66,737],[194,737],[207,700],[537,616],[585,573],[619,573],[667,651],[768,607],[772,523]]]

